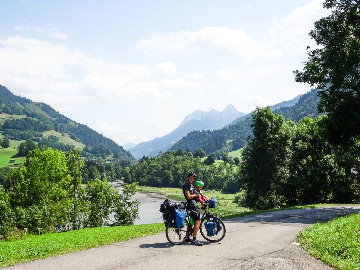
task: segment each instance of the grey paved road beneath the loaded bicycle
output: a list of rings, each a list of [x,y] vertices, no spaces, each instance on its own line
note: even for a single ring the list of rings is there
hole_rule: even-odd
[[[297,234],[315,222],[354,212],[360,206],[269,212],[227,220],[220,243],[172,246],[159,233],[7,269],[181,269],[194,262],[202,269],[331,269],[299,247]]]

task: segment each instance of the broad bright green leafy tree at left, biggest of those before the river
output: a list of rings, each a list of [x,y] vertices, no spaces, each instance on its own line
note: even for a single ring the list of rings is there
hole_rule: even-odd
[[[36,232],[65,229],[71,209],[71,176],[63,152],[35,149],[26,157],[24,166],[10,173],[9,179],[10,202],[14,208],[25,209],[27,227]]]

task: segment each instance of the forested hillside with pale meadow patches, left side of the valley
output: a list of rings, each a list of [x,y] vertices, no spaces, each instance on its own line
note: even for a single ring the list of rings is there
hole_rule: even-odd
[[[10,140],[31,139],[61,150],[68,150],[76,145],[82,150],[82,156],[88,158],[119,160],[124,163],[134,160],[130,152],[113,140],[67,118],[45,103],[15,96],[2,85],[0,132]],[[65,141],[62,138],[68,138],[67,143],[62,142]]]

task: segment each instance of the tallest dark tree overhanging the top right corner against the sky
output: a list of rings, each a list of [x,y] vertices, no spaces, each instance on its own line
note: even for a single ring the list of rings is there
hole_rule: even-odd
[[[314,23],[309,36],[319,47],[308,52],[302,72],[294,71],[295,81],[317,85],[327,137],[347,145],[360,135],[360,2],[325,0],[323,6],[331,15]]]

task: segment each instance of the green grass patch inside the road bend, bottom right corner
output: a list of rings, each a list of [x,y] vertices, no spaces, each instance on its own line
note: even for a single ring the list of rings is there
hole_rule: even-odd
[[[299,233],[303,249],[336,269],[360,269],[360,214],[317,223]]]

